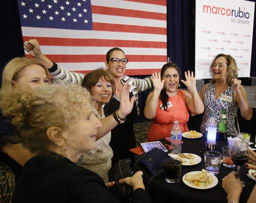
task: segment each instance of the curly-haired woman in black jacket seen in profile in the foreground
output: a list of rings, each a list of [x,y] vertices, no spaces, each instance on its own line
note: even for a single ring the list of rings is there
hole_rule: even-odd
[[[32,155],[12,202],[119,202],[107,189],[114,182],[105,184],[98,174],[75,164],[82,153],[95,148],[101,127],[91,107],[94,98],[85,88],[53,84],[34,91],[2,91],[1,98],[3,114],[11,118]],[[133,188],[131,202],[151,201],[141,175],[137,171],[118,180]]]

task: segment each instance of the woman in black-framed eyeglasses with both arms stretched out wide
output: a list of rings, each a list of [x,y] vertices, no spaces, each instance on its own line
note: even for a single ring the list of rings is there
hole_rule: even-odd
[[[56,63],[52,62],[40,51],[38,41],[36,39],[30,39],[24,43],[24,48],[37,60],[44,63],[54,80],[61,79],[65,83],[81,83],[83,74],[68,71]],[[109,103],[105,104],[104,111],[106,115],[113,113],[119,108],[120,104],[120,92],[123,88],[124,82],[131,84],[130,97],[135,96],[135,103],[132,111],[126,115],[125,120],[119,120],[116,127],[111,130],[111,140],[109,145],[113,150],[112,164],[119,159],[133,156],[129,152],[129,149],[136,146],[135,135],[133,131],[133,117],[139,114],[138,107],[138,92],[151,88],[151,79],[146,77],[144,79],[131,78],[124,75],[126,70],[126,63],[128,59],[122,49],[118,47],[111,48],[106,53],[105,66],[107,71],[113,76],[115,93],[111,97]]]

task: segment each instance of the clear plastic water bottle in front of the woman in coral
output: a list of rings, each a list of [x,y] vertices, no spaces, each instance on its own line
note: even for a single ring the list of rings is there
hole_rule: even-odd
[[[171,141],[171,153],[178,154],[181,153],[181,130],[178,121],[173,122],[173,126],[170,130],[170,141]]]

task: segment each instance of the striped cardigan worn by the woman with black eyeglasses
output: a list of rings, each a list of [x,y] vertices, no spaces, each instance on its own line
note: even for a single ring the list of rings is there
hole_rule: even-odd
[[[53,66],[48,70],[49,73],[54,77],[52,81],[62,80],[64,83],[81,84],[84,77],[84,74],[69,71],[56,63],[54,63]],[[151,78],[145,77],[143,79],[137,79],[129,77],[127,75],[123,75],[121,78],[122,84],[124,84],[124,82],[130,81],[132,81],[132,93],[135,96],[137,114],[139,114],[138,92],[144,91],[152,87]]]

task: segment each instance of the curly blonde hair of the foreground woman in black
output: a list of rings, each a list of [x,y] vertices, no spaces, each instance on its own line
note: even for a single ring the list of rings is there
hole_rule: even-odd
[[[0,99],[3,115],[11,118],[21,143],[31,152],[48,151],[51,141],[46,130],[72,128],[75,121],[91,113],[88,104],[93,102],[89,92],[77,84],[53,84],[26,92],[12,88],[1,91]]]

